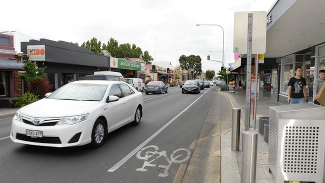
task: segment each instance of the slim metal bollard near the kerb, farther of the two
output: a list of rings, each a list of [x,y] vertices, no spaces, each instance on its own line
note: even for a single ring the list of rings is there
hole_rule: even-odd
[[[232,108],[231,150],[239,150],[240,108]]]

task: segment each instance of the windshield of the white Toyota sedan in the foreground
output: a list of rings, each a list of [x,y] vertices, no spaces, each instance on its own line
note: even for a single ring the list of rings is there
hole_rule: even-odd
[[[106,91],[105,84],[69,83],[57,89],[47,98],[65,100],[100,101]]]

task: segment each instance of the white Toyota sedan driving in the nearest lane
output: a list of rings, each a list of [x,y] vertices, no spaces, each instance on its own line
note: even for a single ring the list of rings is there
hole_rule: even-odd
[[[15,113],[13,142],[99,147],[107,133],[127,123],[137,125],[142,117],[141,92],[121,81],[74,81],[45,96]]]

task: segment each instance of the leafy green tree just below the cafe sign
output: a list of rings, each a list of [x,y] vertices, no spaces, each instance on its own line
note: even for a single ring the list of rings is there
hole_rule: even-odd
[[[44,69],[43,67],[37,67],[37,64],[32,61],[27,61],[25,64],[23,64],[23,72],[19,72],[18,76],[27,81],[28,83],[33,82],[35,80],[41,80],[42,76],[44,75]]]

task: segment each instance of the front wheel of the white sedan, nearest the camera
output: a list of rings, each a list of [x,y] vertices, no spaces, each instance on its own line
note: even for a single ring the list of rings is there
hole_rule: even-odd
[[[105,139],[106,133],[105,122],[102,119],[97,119],[92,127],[90,142],[91,147],[100,147]]]

